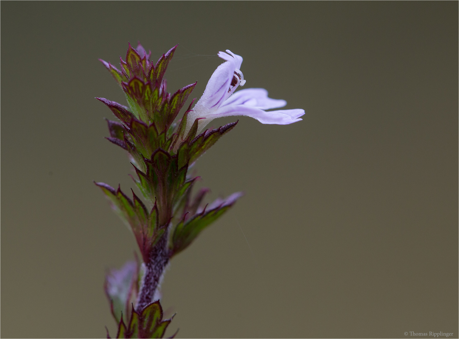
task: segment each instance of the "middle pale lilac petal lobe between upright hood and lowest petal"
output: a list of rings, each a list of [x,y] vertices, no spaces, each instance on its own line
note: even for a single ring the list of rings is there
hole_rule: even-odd
[[[231,95],[222,106],[246,105],[260,109],[273,109],[284,107],[286,104],[285,100],[268,98],[268,91],[264,88],[246,88]]]

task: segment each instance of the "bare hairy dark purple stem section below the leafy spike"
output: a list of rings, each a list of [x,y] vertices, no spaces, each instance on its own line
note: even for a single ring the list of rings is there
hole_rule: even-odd
[[[141,311],[145,306],[153,302],[155,292],[164,268],[169,261],[169,251],[167,248],[167,232],[162,235],[150,252],[150,260],[145,264],[145,274],[140,286],[139,297],[137,300],[137,311]]]

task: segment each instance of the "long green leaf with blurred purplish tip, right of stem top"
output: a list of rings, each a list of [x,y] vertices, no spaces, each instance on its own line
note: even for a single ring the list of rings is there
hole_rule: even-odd
[[[225,213],[231,206],[234,205],[238,198],[242,197],[242,195],[243,194],[241,192],[236,192],[231,194],[225,200],[217,199],[209,206],[209,210],[207,212],[206,208],[204,208],[201,213],[196,214],[188,221],[185,221],[184,217],[184,219],[177,224],[172,235],[173,255],[188,247],[202,230]]]

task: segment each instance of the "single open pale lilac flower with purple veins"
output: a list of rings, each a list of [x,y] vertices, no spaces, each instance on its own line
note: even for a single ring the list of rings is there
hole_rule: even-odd
[[[218,52],[218,56],[226,62],[213,72],[202,97],[188,113],[185,135],[196,119],[200,119],[198,133],[213,119],[229,115],[250,116],[262,124],[288,125],[302,120],[300,116],[304,115],[304,109],[266,111],[284,107],[287,102],[268,98],[268,91],[264,88],[247,88],[234,93],[239,85],[244,86],[246,82],[240,71],[242,57],[229,49],[226,52]]]

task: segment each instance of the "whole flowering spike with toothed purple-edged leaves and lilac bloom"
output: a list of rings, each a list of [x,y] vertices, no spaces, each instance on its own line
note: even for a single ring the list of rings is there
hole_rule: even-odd
[[[166,69],[177,45],[155,63],[139,43],[128,45],[120,68],[101,60],[123,89],[129,107],[97,98],[119,121],[106,120],[110,142],[128,153],[140,191],[131,188],[132,198],[102,182],[95,182],[108,198],[112,209],[132,230],[141,254],[106,275],[104,289],[118,324],[117,338],[162,338],[172,317],[163,319],[159,285],[170,259],[185,250],[210,224],[242,197],[236,192],[226,199],[206,203],[209,191],[193,195],[199,177],[188,169],[238,121],[203,130],[211,120],[228,115],[251,116],[264,124],[291,124],[299,121],[302,109],[277,109],[285,100],[272,99],[263,88],[244,86],[242,57],[219,52],[225,60],[209,79],[202,97],[185,106],[196,82],[167,92]],[[183,108],[188,109],[179,117]],[[179,117],[179,118],[177,118]],[[194,196],[194,197],[193,197]],[[177,334],[177,332],[175,332]],[[175,336],[172,336],[172,338]],[[109,334],[107,331],[107,337]]]

